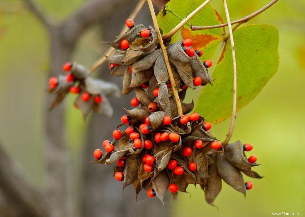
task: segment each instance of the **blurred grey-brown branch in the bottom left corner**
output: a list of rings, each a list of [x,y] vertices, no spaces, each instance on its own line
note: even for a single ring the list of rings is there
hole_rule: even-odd
[[[43,196],[26,182],[19,168],[0,146],[1,216],[48,216]]]

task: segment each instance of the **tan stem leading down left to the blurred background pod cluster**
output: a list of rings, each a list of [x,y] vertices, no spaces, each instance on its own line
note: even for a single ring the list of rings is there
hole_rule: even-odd
[[[138,4],[136,5],[136,7],[134,8],[134,10],[131,12],[131,14],[129,15],[129,19],[134,20],[134,18],[138,15],[138,13],[141,11],[144,3],[146,2],[146,0],[139,0]],[[122,29],[122,31],[120,32],[120,35],[124,34],[125,32],[128,31],[128,27],[125,25],[124,28]],[[95,71],[98,67],[100,67],[107,59],[106,56],[109,56],[111,54],[111,52],[114,50],[113,47],[109,47],[108,50],[105,52],[105,54],[98,59],[89,69],[90,73],[92,73],[93,71]]]

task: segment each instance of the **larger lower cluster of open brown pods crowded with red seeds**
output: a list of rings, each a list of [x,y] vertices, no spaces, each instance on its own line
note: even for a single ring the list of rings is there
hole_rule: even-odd
[[[166,119],[166,112],[150,114],[145,107],[126,111],[128,115],[123,116],[122,121],[130,127],[114,131],[115,140],[105,141],[106,146],[113,148],[109,150],[105,146],[106,155],[96,163],[117,162],[115,178],[124,180],[124,188],[133,184],[136,197],[143,188],[148,195],[153,189],[154,195],[163,202],[168,189],[176,199],[177,191],[186,192],[189,184],[200,184],[206,201],[213,205],[221,191],[222,179],[245,194],[241,172],[252,178],[262,178],[251,170],[258,164],[246,159],[240,141],[223,147],[206,131],[204,118],[196,113],[190,115],[190,120],[187,115]],[[124,164],[119,163],[123,161]]]

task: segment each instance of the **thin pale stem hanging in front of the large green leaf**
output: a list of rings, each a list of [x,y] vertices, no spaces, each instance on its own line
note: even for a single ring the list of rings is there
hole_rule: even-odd
[[[228,5],[226,0],[223,0],[224,10],[226,12],[227,22],[228,22],[228,29],[230,35],[230,42],[231,42],[231,50],[232,50],[232,60],[233,60],[233,108],[232,108],[232,116],[230,122],[229,132],[227,134],[226,139],[222,142],[223,145],[227,145],[230,141],[233,133],[234,122],[236,118],[236,104],[237,104],[237,69],[236,69],[236,58],[235,58],[235,48],[234,48],[234,39],[233,39],[233,31],[230,21],[230,15],[228,10]]]

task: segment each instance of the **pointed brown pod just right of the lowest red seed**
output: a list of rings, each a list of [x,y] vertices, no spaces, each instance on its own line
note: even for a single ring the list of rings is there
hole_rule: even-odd
[[[162,170],[154,179],[153,179],[153,189],[155,190],[157,197],[163,202],[163,198],[166,195],[167,188],[169,186],[169,178],[167,172]]]

